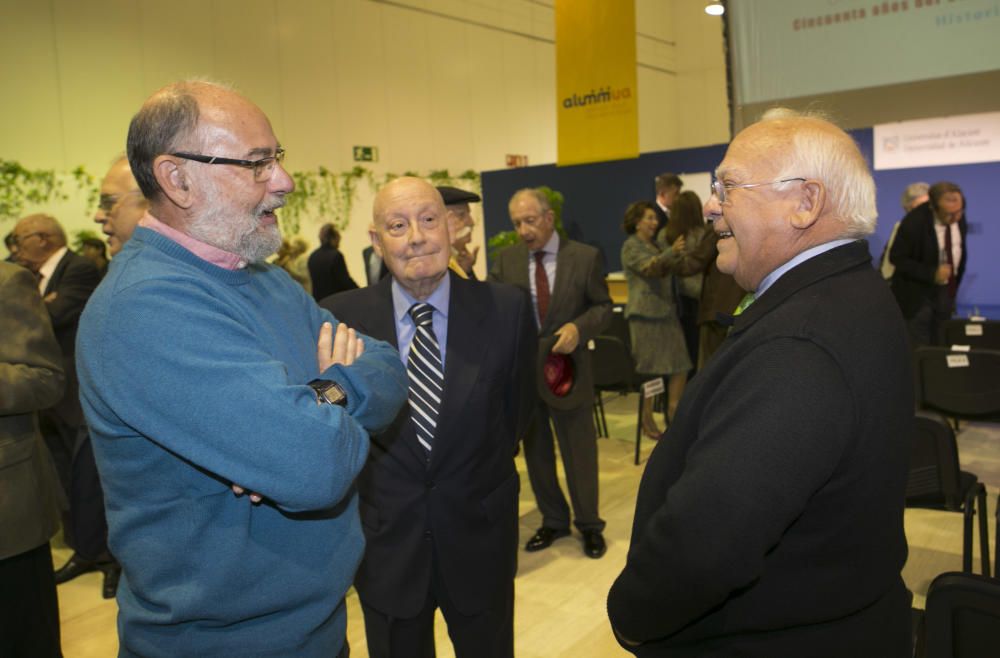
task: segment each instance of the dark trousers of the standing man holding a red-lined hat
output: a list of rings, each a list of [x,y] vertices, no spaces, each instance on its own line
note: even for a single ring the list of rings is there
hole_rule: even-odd
[[[604,530],[604,521],[597,513],[597,432],[589,406],[560,411],[539,403],[525,434],[524,461],[542,513],[542,525],[554,530],[569,529],[569,506],[556,477],[550,417],[566,470],[573,525],[579,530]]]

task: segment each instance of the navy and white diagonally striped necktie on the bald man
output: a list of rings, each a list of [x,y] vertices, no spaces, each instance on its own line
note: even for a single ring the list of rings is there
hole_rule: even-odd
[[[406,371],[410,376],[410,418],[417,430],[417,440],[427,452],[434,444],[441,394],[444,391],[444,367],[441,348],[434,335],[434,307],[414,304],[410,317],[416,325]]]

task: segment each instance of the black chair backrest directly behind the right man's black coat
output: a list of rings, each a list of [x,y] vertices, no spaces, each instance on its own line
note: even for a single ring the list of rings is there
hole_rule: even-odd
[[[940,499],[948,508],[960,509],[963,495],[959,482],[958,443],[951,425],[936,413],[918,411],[910,442],[907,502]]]

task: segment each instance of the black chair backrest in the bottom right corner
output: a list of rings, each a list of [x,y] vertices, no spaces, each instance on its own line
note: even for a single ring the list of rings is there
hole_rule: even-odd
[[[1000,655],[1000,580],[950,572],[927,590],[926,658]]]

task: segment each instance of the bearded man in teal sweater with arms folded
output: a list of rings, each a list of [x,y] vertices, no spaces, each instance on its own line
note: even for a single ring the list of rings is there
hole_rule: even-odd
[[[354,478],[406,373],[262,263],[293,189],[283,155],[259,108],[205,82],[158,91],[129,127],[150,210],[77,350],[122,656],[348,651]]]

